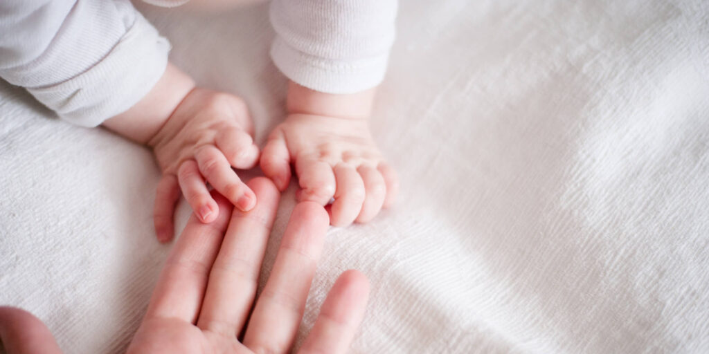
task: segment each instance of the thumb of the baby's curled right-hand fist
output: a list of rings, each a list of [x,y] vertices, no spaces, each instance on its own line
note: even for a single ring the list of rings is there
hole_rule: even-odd
[[[291,181],[291,155],[286,147],[283,133],[274,130],[261,154],[261,169],[271,178],[278,190],[285,190]]]

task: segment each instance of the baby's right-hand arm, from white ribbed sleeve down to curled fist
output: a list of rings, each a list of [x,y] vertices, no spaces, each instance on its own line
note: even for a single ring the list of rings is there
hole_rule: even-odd
[[[394,39],[396,0],[273,0],[274,64],[290,80],[286,120],[261,168],[283,190],[294,164],[299,200],[327,204],[330,222],[368,222],[396,195],[369,116]]]

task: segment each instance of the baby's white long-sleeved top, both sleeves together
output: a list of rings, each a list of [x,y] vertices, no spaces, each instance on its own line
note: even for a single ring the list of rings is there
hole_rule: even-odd
[[[271,56],[310,89],[369,89],[384,77],[395,17],[396,0],[273,0]],[[140,101],[168,52],[129,0],[0,1],[0,76],[77,125],[94,127]]]

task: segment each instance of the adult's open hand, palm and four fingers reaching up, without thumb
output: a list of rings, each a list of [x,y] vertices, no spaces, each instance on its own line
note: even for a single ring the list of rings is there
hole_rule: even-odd
[[[322,251],[328,213],[315,202],[296,205],[252,310],[279,192],[267,178],[248,185],[257,199],[249,212],[234,210],[229,220],[230,202],[213,195],[218,218],[203,224],[191,217],[128,353],[289,353]],[[345,353],[368,294],[362,273],[340,275],[300,353]]]

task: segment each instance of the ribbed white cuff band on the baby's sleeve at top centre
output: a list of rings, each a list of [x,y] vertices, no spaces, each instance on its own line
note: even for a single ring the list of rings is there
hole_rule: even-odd
[[[308,89],[325,93],[356,93],[381,84],[389,54],[351,61],[308,55],[279,36],[271,46],[274,64],[289,79]]]

